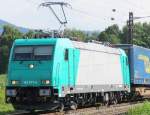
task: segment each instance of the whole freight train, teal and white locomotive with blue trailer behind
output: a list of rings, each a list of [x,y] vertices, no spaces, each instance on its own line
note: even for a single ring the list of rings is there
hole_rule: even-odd
[[[67,38],[17,39],[9,58],[6,102],[63,110],[135,99],[140,95],[136,88],[150,84],[150,51],[128,49]]]

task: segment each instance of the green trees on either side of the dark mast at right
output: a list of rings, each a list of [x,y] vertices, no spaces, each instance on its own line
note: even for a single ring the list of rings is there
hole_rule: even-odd
[[[135,23],[133,30],[133,44],[150,48],[150,23]],[[99,41],[110,42],[112,44],[126,44],[127,38],[127,26],[124,26],[120,30],[116,24],[106,28],[98,36]]]

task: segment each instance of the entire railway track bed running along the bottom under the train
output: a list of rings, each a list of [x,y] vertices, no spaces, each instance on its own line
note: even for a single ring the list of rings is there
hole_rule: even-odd
[[[55,112],[53,110],[46,111],[16,111],[9,115],[127,115],[129,108],[141,105],[142,102],[122,103],[117,105],[111,105],[109,107],[88,107],[80,108],[77,110],[66,110],[64,112]]]

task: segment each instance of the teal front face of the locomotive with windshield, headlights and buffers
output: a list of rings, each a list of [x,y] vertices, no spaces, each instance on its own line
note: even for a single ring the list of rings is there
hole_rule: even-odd
[[[31,41],[33,43],[31,43]],[[55,44],[16,40],[9,59],[6,101],[49,96]]]

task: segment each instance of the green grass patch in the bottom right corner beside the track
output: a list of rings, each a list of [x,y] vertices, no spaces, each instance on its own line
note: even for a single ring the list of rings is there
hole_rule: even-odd
[[[129,109],[128,115],[150,115],[150,103],[144,102],[140,106]]]

